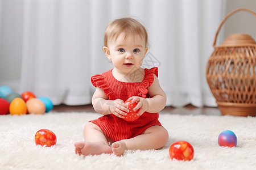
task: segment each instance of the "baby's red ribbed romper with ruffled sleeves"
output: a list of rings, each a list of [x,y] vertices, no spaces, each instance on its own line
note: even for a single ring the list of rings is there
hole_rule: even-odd
[[[154,74],[158,76],[158,68],[153,67],[144,69],[142,82],[120,82],[114,78],[112,70],[93,75],[91,78],[93,86],[102,88],[109,100],[121,99],[126,101],[131,96],[148,98],[147,87],[154,82]],[[158,117],[158,113],[144,112],[137,120],[128,122],[114,114],[108,114],[90,122],[99,126],[113,141],[120,141],[136,137],[150,126],[162,126],[158,121]]]

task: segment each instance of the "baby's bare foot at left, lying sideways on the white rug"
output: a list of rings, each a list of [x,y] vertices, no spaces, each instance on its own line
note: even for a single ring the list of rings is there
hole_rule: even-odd
[[[97,142],[76,142],[74,143],[75,153],[79,155],[101,155],[112,154],[111,147]]]

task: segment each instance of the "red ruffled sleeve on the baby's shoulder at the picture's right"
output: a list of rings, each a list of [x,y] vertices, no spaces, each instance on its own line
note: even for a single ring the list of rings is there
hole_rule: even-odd
[[[158,77],[158,67],[153,67],[151,69],[144,69],[145,75],[144,79],[139,87],[139,95],[143,98],[147,97],[148,90],[147,88],[152,85],[154,82],[154,75]]]

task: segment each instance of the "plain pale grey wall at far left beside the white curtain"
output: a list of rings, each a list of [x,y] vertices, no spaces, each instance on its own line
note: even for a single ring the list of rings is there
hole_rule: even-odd
[[[0,20],[0,86],[17,91],[22,58],[22,1],[0,0]]]

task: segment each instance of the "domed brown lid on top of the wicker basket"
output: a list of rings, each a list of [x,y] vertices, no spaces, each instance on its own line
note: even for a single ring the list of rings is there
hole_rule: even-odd
[[[226,37],[226,39],[219,46],[256,46],[256,42],[251,36],[244,33],[233,33],[232,35]]]

